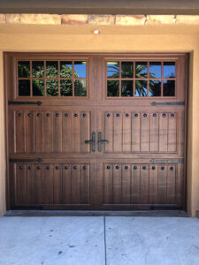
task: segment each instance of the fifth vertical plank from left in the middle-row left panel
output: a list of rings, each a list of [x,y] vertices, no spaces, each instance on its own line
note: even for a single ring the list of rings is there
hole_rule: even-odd
[[[53,151],[62,152],[62,113],[53,113]]]

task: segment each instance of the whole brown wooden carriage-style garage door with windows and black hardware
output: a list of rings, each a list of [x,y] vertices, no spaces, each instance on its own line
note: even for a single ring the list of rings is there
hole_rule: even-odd
[[[187,56],[5,55],[8,208],[185,207]]]

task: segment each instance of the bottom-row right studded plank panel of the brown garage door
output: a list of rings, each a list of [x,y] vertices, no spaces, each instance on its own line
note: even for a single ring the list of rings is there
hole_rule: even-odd
[[[180,163],[103,163],[103,205],[180,205],[182,169]]]

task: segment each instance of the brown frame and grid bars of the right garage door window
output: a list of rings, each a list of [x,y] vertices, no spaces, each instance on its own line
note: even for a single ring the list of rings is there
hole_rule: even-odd
[[[119,63],[119,78],[108,78],[108,63],[110,62],[115,62],[115,63]],[[122,72],[122,67],[121,67],[121,64],[123,62],[133,62],[133,78],[122,78],[121,77],[121,72]],[[139,78],[136,78],[136,71],[135,71],[135,66],[136,66],[136,63],[137,62],[143,62],[143,63],[147,63],[147,79],[146,78],[142,78],[142,79],[139,79]],[[161,78],[150,78],[149,77],[149,63],[161,63]],[[174,63],[175,64],[175,77],[174,78],[164,78],[164,63]],[[175,98],[177,96],[177,61],[175,59],[148,59],[148,60],[144,60],[144,59],[136,59],[136,60],[129,60],[129,59],[107,59],[105,61],[105,76],[106,76],[106,98],[108,99],[111,99],[111,98],[119,98],[119,99],[126,99],[126,98],[136,98],[136,99],[139,99],[139,98],[148,98],[148,99],[151,99],[151,98],[165,98],[165,97],[169,97],[169,98]],[[108,96],[108,80],[118,80],[119,81],[119,96]],[[121,81],[122,80],[132,80],[133,81],[133,96],[122,96],[121,95]],[[136,87],[136,80],[146,80],[147,81],[147,96],[135,96],[135,87]],[[150,80],[161,80],[161,95],[160,96],[149,96],[149,81]],[[174,80],[174,95],[172,96],[164,96],[164,80]]]

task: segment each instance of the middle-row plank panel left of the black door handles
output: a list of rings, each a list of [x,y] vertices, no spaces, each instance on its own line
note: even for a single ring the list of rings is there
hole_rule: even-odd
[[[95,110],[13,110],[11,154],[91,154]],[[11,116],[12,116],[11,114]]]

